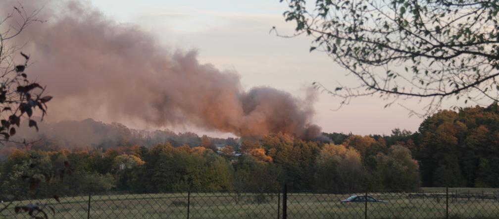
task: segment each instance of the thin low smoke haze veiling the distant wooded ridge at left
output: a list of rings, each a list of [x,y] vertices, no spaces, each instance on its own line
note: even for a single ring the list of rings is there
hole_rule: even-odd
[[[87,118],[81,121],[39,122],[39,131],[29,128],[27,122],[19,127],[18,136],[13,139],[34,141],[29,144],[34,150],[89,150],[94,148],[109,149],[120,146],[141,145],[152,147],[158,143],[171,143],[173,146],[200,146],[202,138],[206,138],[213,146],[231,145],[236,149],[239,139],[234,137],[217,138],[206,135],[199,136],[193,132],[175,133],[171,130],[142,130],[129,128],[121,123],[104,123]],[[203,145],[202,145],[203,146]],[[15,148],[14,143],[5,144],[0,148],[0,159]]]

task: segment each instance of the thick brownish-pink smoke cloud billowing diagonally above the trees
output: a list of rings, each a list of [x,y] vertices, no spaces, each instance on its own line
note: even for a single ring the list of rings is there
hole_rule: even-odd
[[[22,4],[26,10],[42,6]],[[237,72],[199,63],[196,51],[172,52],[152,34],[116,23],[88,3],[44,4],[39,18],[48,21],[29,26],[18,40],[28,42],[23,50],[36,60],[29,75],[54,96],[51,120],[106,117],[238,136],[285,132],[311,138],[320,132],[310,123],[312,94],[298,99],[271,87],[246,91]]]

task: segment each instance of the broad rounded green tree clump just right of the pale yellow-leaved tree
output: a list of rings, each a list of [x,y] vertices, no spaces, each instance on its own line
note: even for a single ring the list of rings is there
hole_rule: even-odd
[[[220,190],[231,186],[230,166],[211,149],[158,144],[132,170],[131,184],[139,191]]]

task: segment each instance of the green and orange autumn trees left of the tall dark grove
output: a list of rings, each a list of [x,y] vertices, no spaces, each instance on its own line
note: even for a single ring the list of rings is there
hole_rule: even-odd
[[[373,144],[373,146],[368,145]],[[375,144],[375,145],[374,145]],[[74,186],[93,190],[277,190],[286,183],[296,190],[405,189],[419,187],[418,163],[402,145],[382,138],[351,135],[343,144],[304,141],[277,133],[241,143],[241,155],[226,145],[191,147],[159,143],[106,150],[15,150],[1,163],[1,189],[22,190],[22,175],[34,172],[44,186],[62,192]],[[69,164],[67,164],[69,163]],[[38,172],[57,172],[70,165],[62,180]],[[33,166],[35,166],[33,168]],[[394,178],[396,176],[396,178]],[[2,192],[4,193],[4,192]]]

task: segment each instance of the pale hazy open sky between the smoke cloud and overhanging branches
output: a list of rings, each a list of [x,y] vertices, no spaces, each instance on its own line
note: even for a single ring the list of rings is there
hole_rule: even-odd
[[[104,14],[133,23],[156,35],[172,49],[199,51],[201,62],[233,69],[245,87],[271,86],[302,96],[313,81],[335,87],[354,84],[346,71],[324,53],[308,52],[310,38],[281,38],[272,26],[292,33],[284,22],[286,5],[278,0],[92,0]],[[422,118],[401,106],[383,106],[378,97],[354,99],[335,111],[339,99],[320,94],[314,121],[327,132],[389,134],[395,127],[415,131]],[[405,102],[417,106],[417,102]]]

